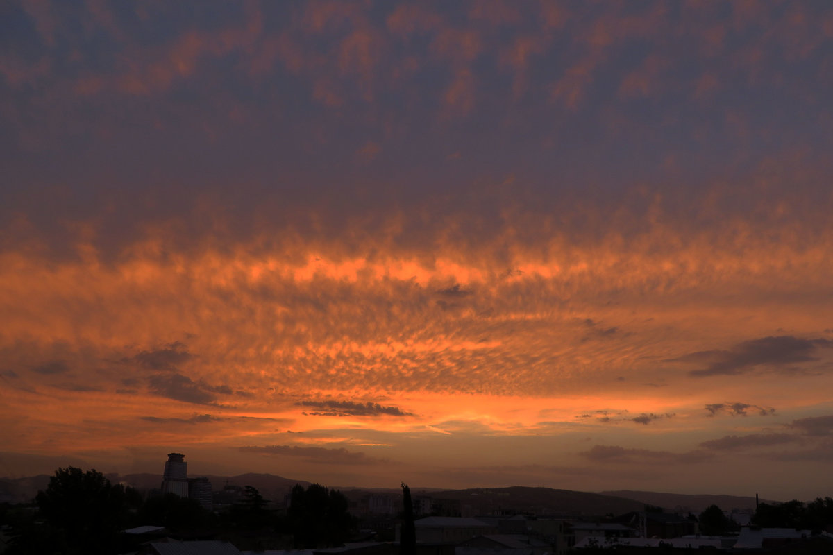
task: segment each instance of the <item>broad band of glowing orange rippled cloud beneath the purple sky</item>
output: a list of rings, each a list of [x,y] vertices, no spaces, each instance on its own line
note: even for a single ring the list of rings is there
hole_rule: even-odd
[[[707,404],[744,399],[751,389],[716,399],[711,382],[658,370],[696,369],[675,359],[702,350],[698,344],[727,349],[750,334],[815,336],[826,325],[823,307],[796,313],[802,301],[790,276],[796,267],[825,275],[830,262],[821,253],[830,247],[782,243],[774,264],[763,254],[771,245],[746,236],[740,247],[737,237],[706,246],[668,235],[551,244],[539,260],[523,259],[525,247],[509,273],[493,270],[488,250],[459,258],[451,247],[426,263],[426,253],[397,256],[383,236],[367,246],[372,260],[324,255],[333,250],[320,241],[301,258],[247,254],[246,245],[176,252],[138,244],[107,263],[91,247],[61,262],[6,252],[0,283],[11,310],[0,333],[7,346],[22,346],[14,362],[40,374],[17,378],[13,385],[26,393],[7,412],[24,415],[36,452],[89,449],[93,437],[101,445],[181,440],[166,423],[211,426],[212,442],[228,447],[286,444],[287,430],[298,434],[290,444],[381,448],[395,442],[377,434],[702,429]],[[680,246],[658,252],[658,241]],[[160,250],[164,259],[147,255]],[[726,293],[716,298],[716,287]],[[762,313],[777,315],[782,330]],[[55,368],[38,369],[44,359]],[[781,411],[827,401],[768,387],[755,399]],[[42,411],[37,397],[52,409]],[[375,408],[351,414],[352,404],[367,403]],[[83,434],[59,425],[66,414],[94,422],[99,412],[110,424]]]

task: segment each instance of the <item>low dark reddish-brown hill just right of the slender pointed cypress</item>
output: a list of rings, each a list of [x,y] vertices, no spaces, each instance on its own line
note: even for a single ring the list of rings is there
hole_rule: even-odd
[[[453,499],[470,506],[475,513],[491,513],[501,508],[528,511],[538,515],[605,515],[640,511],[645,503],[603,495],[551,488],[476,488],[439,491],[432,498]]]

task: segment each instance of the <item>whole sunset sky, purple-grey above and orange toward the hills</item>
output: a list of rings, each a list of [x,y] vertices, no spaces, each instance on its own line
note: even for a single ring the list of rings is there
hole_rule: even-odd
[[[0,476],[833,493],[833,4],[2,2]]]

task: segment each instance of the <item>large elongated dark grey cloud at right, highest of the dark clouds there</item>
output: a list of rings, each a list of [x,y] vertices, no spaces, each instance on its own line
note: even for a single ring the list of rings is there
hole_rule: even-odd
[[[691,370],[696,377],[744,374],[757,366],[785,368],[790,364],[814,362],[820,348],[833,347],[831,339],[801,339],[780,335],[751,339],[727,350],[709,350],[685,354],[668,362],[706,364],[706,368]]]

